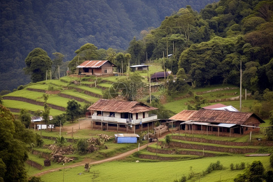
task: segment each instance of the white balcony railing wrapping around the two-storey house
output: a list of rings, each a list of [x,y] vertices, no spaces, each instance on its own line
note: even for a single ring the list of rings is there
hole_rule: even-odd
[[[146,118],[141,118],[141,119],[136,119],[136,120],[130,120],[124,119],[124,118],[116,118],[116,117],[108,117],[108,116],[95,116],[92,115],[92,119],[94,120],[100,120],[100,121],[105,121],[105,122],[117,122],[117,123],[130,123],[130,124],[140,124],[140,123],[146,123],[149,121],[153,121],[157,119],[157,115],[151,114],[151,116],[146,117]]]

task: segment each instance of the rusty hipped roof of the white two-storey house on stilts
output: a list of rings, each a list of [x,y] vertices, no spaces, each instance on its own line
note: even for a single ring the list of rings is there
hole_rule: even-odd
[[[157,108],[147,106],[141,102],[130,102],[125,100],[115,100],[115,99],[100,99],[98,102],[94,103],[88,108],[88,110],[99,110],[106,112],[129,112],[129,113],[139,113],[150,110],[155,110]]]

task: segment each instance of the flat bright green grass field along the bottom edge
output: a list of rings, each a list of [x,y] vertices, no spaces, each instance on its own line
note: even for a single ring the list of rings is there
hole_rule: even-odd
[[[244,162],[251,164],[261,161],[266,169],[270,169],[269,157],[244,157],[242,155],[201,158],[178,162],[136,163],[135,161],[116,161],[92,165],[90,172],[84,171],[84,166],[65,168],[41,177],[44,182],[52,181],[95,181],[95,182],[172,182],[185,175],[188,177],[190,166],[196,177],[189,181],[199,181],[199,173],[205,171],[210,163],[220,161],[224,170],[213,171],[201,177],[201,182],[232,182],[243,170],[231,171],[229,165]],[[65,166],[64,166],[65,167]]]

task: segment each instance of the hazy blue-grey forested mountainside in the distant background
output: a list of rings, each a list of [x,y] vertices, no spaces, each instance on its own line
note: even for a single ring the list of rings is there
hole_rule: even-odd
[[[52,58],[75,56],[89,42],[99,49],[126,50],[140,31],[191,5],[200,11],[214,0],[1,0],[0,91],[30,82],[22,70],[34,48]]]

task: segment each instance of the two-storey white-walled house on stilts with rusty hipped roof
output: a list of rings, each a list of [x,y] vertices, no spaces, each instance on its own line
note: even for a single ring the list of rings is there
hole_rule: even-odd
[[[147,127],[152,129],[154,122],[158,119],[157,115],[150,114],[149,111],[155,109],[157,108],[147,106],[141,102],[115,99],[100,99],[88,108],[93,113],[92,128],[117,130],[126,133],[147,130]]]

